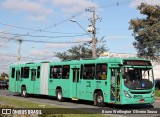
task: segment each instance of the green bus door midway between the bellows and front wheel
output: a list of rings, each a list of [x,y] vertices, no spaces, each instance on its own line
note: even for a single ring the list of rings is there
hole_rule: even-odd
[[[78,84],[79,84],[79,68],[72,68],[72,88],[71,97],[77,98]]]

